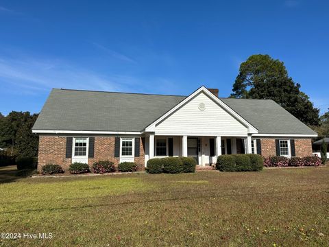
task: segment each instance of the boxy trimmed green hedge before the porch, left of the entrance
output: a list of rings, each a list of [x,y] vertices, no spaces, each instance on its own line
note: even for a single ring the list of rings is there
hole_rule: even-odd
[[[178,174],[195,172],[197,161],[191,157],[151,158],[147,161],[146,171],[150,174]]]

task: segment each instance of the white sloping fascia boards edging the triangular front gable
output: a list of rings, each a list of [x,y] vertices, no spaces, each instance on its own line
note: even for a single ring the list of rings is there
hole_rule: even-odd
[[[238,119],[239,121],[241,121],[241,123],[243,125],[247,126],[248,132],[250,134],[258,133],[258,130],[254,126],[252,126],[251,124],[249,124],[248,121],[246,121],[245,119],[243,119],[243,117],[241,117],[234,110],[232,110],[232,108],[230,108],[227,104],[225,104],[224,102],[222,102],[221,99],[219,99],[218,97],[216,97],[215,95],[213,95],[212,93],[210,93],[210,91],[208,91],[208,89],[206,89],[204,86],[201,86],[199,89],[197,89],[197,91],[195,91],[194,93],[192,93],[191,95],[189,95],[188,97],[186,97],[186,99],[184,99],[182,102],[180,102],[180,104],[178,104],[177,106],[173,107],[167,113],[165,113],[164,115],[162,115],[162,117],[160,117],[159,119],[157,119],[156,121],[154,121],[153,123],[151,123],[149,126],[147,126],[145,128],[145,132],[149,132],[149,131],[154,132],[156,130],[156,124],[158,124],[160,121],[162,121],[163,119],[165,119],[166,117],[168,117],[169,115],[171,115],[171,113],[174,113],[175,110],[177,110],[178,108],[180,108],[181,106],[183,106],[184,104],[186,104],[187,102],[189,102],[191,99],[193,99],[193,97],[195,97],[195,95],[199,94],[202,91],[204,93],[206,93],[206,95],[208,95],[215,102],[217,102],[217,104],[219,104],[221,107],[223,107],[226,111],[228,111],[228,113],[230,113],[233,117],[235,117],[236,119]]]

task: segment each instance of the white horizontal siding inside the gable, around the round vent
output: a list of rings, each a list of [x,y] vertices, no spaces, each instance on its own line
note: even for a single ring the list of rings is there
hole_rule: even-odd
[[[199,110],[204,103],[205,110]],[[223,110],[208,95],[199,93],[156,126],[156,134],[247,135],[247,127]]]

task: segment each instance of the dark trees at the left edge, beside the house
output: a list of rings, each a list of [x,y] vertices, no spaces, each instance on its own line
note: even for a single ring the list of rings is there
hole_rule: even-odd
[[[0,113],[0,148],[16,157],[38,156],[38,136],[32,127],[38,114],[12,111],[7,116]]]

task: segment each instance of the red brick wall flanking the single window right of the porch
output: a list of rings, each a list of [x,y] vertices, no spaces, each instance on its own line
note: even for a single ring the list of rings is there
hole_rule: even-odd
[[[276,139],[260,139],[262,155],[276,156]],[[311,139],[295,139],[295,152],[297,157],[312,156]]]

